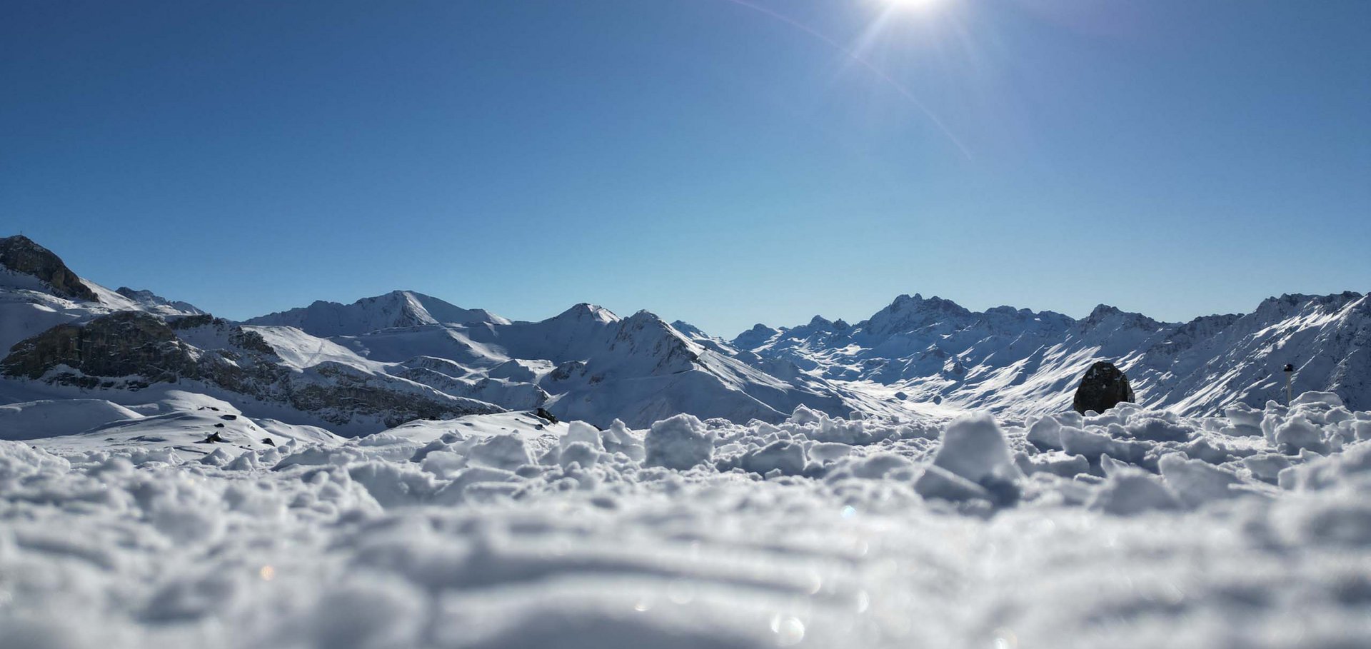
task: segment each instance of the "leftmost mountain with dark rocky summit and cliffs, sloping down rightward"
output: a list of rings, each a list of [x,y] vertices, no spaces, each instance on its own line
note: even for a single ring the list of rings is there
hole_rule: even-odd
[[[0,402],[93,391],[118,403],[175,386],[351,432],[503,410],[295,328],[241,327],[148,291],[110,291],[22,236],[0,239]]]

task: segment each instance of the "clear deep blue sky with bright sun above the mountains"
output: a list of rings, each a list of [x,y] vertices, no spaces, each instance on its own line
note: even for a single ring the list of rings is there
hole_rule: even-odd
[[[1364,0],[0,3],[0,235],[232,318],[1371,290]]]

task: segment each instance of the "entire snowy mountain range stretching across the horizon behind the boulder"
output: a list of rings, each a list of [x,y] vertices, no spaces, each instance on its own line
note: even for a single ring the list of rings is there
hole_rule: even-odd
[[[1297,394],[1331,391],[1366,409],[1368,343],[1371,303],[1357,292],[1282,295],[1190,322],[901,295],[856,324],[816,316],[732,339],[587,303],[511,321],[414,291],[236,322],[151,291],[111,291],[23,236],[0,239],[0,402],[89,391],[119,402],[177,386],[350,434],[537,408],[600,427],[677,413],[779,421],[798,406],[1027,417],[1068,409],[1097,359],[1124,369],[1141,402],[1182,414],[1281,399],[1286,364]]]

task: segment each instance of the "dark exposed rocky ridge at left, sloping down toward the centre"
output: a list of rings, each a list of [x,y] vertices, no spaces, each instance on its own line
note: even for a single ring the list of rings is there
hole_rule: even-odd
[[[199,349],[178,332],[218,343],[215,349]],[[16,343],[0,361],[0,373],[89,388],[199,380],[288,403],[335,424],[345,424],[356,414],[398,425],[415,418],[500,412],[481,401],[424,391],[402,379],[366,375],[340,364],[300,372],[282,364],[260,333],[213,316],[167,322],[149,313],[117,311],[84,324],[62,324]]]

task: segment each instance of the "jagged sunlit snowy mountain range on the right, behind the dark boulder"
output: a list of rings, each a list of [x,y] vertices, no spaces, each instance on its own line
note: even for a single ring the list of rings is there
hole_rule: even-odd
[[[788,329],[757,325],[731,344],[754,354],[754,365],[791,364],[883,399],[1015,414],[1068,408],[1097,359],[1128,372],[1143,403],[1187,414],[1283,399],[1285,364],[1296,366],[1297,394],[1330,391],[1352,408],[1371,406],[1371,305],[1356,292],[1283,295],[1250,314],[1186,324],[1105,305],[1073,320],[901,295],[856,325],[816,316]]]

